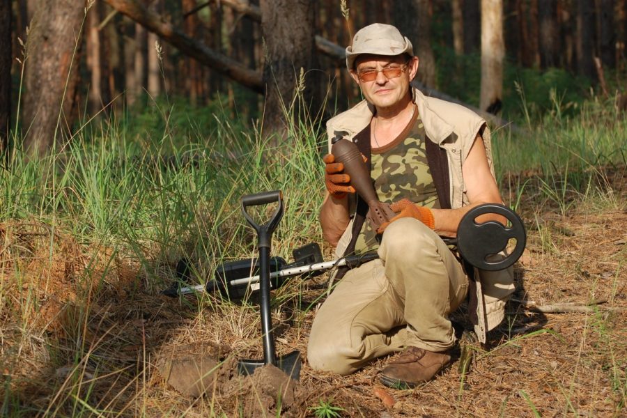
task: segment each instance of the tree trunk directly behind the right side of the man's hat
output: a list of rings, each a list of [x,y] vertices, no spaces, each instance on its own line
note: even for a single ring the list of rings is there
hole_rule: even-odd
[[[393,13],[396,27],[407,36],[420,59],[417,74],[422,84],[435,88],[435,58],[431,49],[431,16],[429,0],[394,1]]]

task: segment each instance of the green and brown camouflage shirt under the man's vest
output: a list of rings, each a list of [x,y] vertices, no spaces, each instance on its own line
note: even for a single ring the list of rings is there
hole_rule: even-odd
[[[379,201],[393,203],[401,199],[440,208],[438,194],[426,159],[426,134],[418,112],[392,143],[371,150],[371,177]],[[378,247],[376,231],[366,220],[355,243],[355,253]]]

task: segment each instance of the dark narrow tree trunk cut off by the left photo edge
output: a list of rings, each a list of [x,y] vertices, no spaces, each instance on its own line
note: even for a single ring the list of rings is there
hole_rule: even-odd
[[[0,0],[0,154],[8,149],[11,121],[11,0]]]

